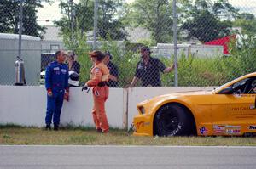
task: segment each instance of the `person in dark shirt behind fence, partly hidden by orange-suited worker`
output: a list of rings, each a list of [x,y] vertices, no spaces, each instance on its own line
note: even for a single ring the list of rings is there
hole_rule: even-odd
[[[118,87],[118,76],[119,76],[119,70],[116,65],[113,64],[112,55],[107,51],[105,53],[105,59],[104,63],[108,66],[108,70],[110,73],[109,81],[108,81],[108,87]]]

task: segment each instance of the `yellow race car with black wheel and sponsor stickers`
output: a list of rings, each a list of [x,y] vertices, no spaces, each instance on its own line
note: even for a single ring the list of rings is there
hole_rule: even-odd
[[[256,72],[211,92],[172,93],[137,104],[136,136],[256,135]]]

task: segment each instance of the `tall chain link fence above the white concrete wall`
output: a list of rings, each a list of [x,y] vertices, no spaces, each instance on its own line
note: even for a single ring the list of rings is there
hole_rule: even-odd
[[[178,86],[219,86],[256,71],[253,0],[193,2],[177,1],[176,6]],[[130,85],[134,76],[139,78],[135,86],[174,86],[172,1],[55,3],[55,11],[44,12],[49,19],[38,19],[42,14],[38,8],[48,3],[23,0],[20,58],[24,60],[26,85],[44,85],[45,66],[61,49],[75,53],[82,85],[90,77],[88,52],[97,48],[109,51],[118,68],[115,87]],[[0,7],[0,84],[15,85],[20,2],[3,0]],[[60,18],[51,19],[57,11],[61,11]],[[144,45],[154,58],[147,63],[142,61],[140,50]]]

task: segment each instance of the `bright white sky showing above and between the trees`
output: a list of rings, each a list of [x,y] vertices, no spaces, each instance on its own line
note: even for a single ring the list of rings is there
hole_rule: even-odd
[[[74,3],[78,3],[79,0],[73,0]],[[126,0],[127,3],[131,3],[134,0]],[[60,0],[56,0],[55,3],[49,5],[48,3],[43,3],[44,8],[38,9],[38,23],[39,25],[52,25],[50,21],[45,20],[59,20],[61,18],[61,11],[58,6]],[[247,12],[251,14],[256,14],[256,0],[229,0],[236,8],[240,8],[241,12]]]

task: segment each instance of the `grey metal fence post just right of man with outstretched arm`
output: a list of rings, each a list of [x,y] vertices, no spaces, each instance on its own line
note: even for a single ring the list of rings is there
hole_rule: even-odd
[[[176,12],[176,0],[172,1],[172,8],[173,8],[173,45],[174,45],[174,85],[175,87],[178,86],[177,84],[177,12]]]

